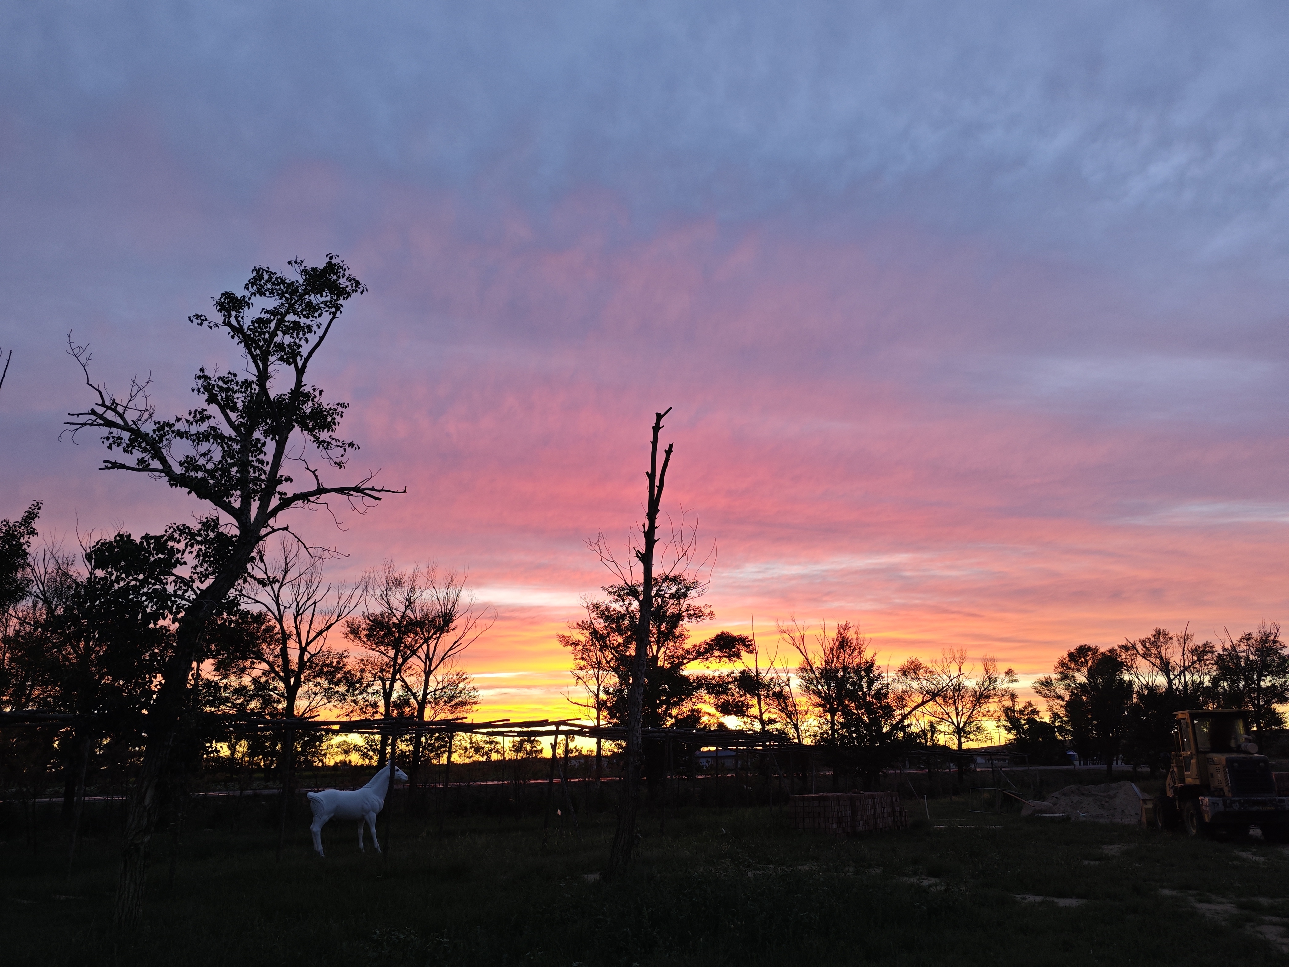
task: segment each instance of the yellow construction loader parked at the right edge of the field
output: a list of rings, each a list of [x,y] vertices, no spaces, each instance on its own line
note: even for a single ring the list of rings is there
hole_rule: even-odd
[[[1172,767],[1152,803],[1160,825],[1188,835],[1248,833],[1289,842],[1289,797],[1276,794],[1271,761],[1258,754],[1249,714],[1237,709],[1177,712]]]

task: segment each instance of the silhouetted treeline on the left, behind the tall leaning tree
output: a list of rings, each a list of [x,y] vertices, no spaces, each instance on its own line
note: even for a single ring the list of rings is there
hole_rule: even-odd
[[[75,551],[35,545],[40,504],[0,521],[0,710],[75,714],[71,728],[6,730],[6,771],[66,776],[68,805],[92,754],[117,767],[138,759],[177,618],[192,579],[170,535],[120,532]],[[467,716],[478,691],[460,660],[490,627],[461,579],[387,562],[354,585],[324,578],[324,561],[284,538],[260,548],[208,627],[192,668],[189,712],[268,718]],[[324,736],[299,732],[296,762],[320,765]],[[227,728],[189,734],[187,759],[228,749],[247,766],[275,767],[282,736]],[[334,750],[333,750],[334,752]],[[383,762],[379,740],[351,744]],[[410,749],[411,768],[437,748]]]

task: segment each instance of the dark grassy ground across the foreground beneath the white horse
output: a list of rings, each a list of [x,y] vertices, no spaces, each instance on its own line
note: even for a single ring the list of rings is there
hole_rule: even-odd
[[[920,803],[919,803],[920,806]],[[540,823],[420,826],[392,856],[352,824],[326,860],[294,824],[184,834],[173,883],[159,837],[147,923],[108,928],[115,847],[0,845],[6,964],[1089,964],[1280,963],[1289,850],[1045,824],[931,803],[931,820],[853,839],[795,833],[784,810],[643,821],[629,875],[598,877],[611,817],[579,839]],[[1034,899],[1018,899],[1034,897]],[[1038,899],[1052,897],[1052,899]],[[1057,900],[1063,901],[1058,904]],[[1071,903],[1079,901],[1079,903]]]

